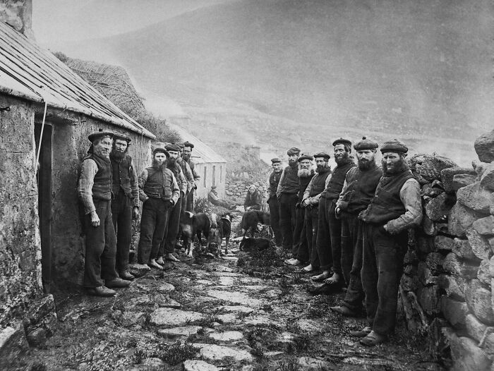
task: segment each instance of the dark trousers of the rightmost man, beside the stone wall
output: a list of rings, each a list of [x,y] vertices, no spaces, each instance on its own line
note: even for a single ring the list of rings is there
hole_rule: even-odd
[[[362,285],[366,294],[367,318],[374,332],[391,334],[396,324],[399,279],[408,232],[387,233],[382,226],[363,226]]]

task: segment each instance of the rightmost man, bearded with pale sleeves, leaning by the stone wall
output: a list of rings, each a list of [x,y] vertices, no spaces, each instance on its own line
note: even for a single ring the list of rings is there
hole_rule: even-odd
[[[407,230],[422,220],[420,185],[405,161],[408,148],[394,139],[385,142],[381,152],[382,178],[372,202],[359,215],[364,222],[361,273],[370,323],[360,342],[366,346],[387,341],[394,330]]]

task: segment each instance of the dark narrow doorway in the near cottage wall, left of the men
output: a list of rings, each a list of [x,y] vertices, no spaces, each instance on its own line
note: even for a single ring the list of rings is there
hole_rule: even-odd
[[[41,123],[35,123],[36,154],[40,147],[41,126]],[[52,126],[44,123],[40,160],[36,164],[41,236],[41,276],[45,293],[50,292],[52,283],[52,133]]]

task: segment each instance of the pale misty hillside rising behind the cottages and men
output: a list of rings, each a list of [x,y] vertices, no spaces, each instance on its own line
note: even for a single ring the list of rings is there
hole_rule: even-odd
[[[64,51],[126,67],[208,140],[317,150],[366,133],[444,153],[492,128],[493,14],[490,1],[241,0]]]

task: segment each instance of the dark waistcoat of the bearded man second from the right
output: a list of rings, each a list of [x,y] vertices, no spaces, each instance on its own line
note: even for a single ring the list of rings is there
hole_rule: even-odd
[[[362,171],[359,166],[347,174],[347,212],[359,213],[365,210],[374,197],[375,188],[379,184],[382,170],[375,165]]]

